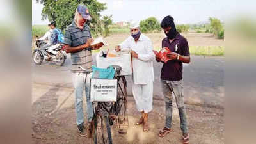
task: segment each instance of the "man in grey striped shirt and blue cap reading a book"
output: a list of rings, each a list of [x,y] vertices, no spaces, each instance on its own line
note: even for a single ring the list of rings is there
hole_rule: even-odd
[[[92,68],[92,52],[91,49],[99,49],[102,45],[90,47],[93,39],[90,33],[90,28],[86,21],[90,19],[88,8],[84,5],[77,6],[74,21],[70,24],[64,36],[65,51],[71,53],[71,71],[72,83],[75,88],[76,96],[76,124],[77,132],[81,136],[84,134],[84,113],[83,113],[83,90],[85,86],[86,104],[87,104],[87,118],[88,123],[93,118],[93,106],[90,102],[90,82],[91,74],[85,74],[78,67],[81,66],[86,69]],[[85,81],[86,79],[86,81]]]

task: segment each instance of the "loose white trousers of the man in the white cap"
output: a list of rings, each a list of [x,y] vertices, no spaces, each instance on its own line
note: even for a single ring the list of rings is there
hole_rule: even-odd
[[[149,113],[153,109],[153,81],[148,84],[133,84],[132,93],[138,111]]]

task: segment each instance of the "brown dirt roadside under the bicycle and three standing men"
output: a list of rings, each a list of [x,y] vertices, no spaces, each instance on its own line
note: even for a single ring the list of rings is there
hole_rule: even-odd
[[[186,99],[186,98],[185,98]],[[154,100],[154,110],[149,115],[150,132],[134,126],[140,113],[136,110],[133,97],[128,97],[128,132],[117,133],[112,127],[113,143],[181,143],[180,120],[177,106],[173,104],[174,132],[164,138],[157,136],[164,126],[164,102]],[[224,143],[224,109],[186,105],[189,121],[190,141],[193,144]],[[84,111],[86,103],[84,99]],[[84,113],[86,116],[86,113]],[[76,113],[72,88],[33,84],[32,86],[32,140],[33,143],[90,143],[90,139],[76,132]]]

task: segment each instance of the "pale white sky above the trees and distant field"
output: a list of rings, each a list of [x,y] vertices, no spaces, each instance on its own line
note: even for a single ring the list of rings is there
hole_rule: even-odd
[[[161,21],[166,15],[172,15],[176,24],[196,24],[207,22],[209,17],[225,21],[241,12],[252,13],[255,8],[248,8],[245,1],[232,0],[98,0],[106,3],[107,9],[101,15],[113,15],[113,22],[140,21],[148,17],[156,17]],[[244,4],[244,6],[243,6]],[[237,7],[239,5],[239,8]],[[48,24],[41,20],[41,4],[32,1],[32,24]]]

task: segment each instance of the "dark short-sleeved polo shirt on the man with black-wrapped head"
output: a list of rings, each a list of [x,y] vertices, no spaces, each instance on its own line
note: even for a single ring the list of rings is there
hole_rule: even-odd
[[[188,41],[178,33],[172,43],[168,38],[162,41],[162,47],[168,47],[171,52],[176,52],[181,56],[189,56]],[[164,63],[161,70],[161,79],[168,81],[180,81],[182,79],[182,62],[179,60],[169,60]]]

